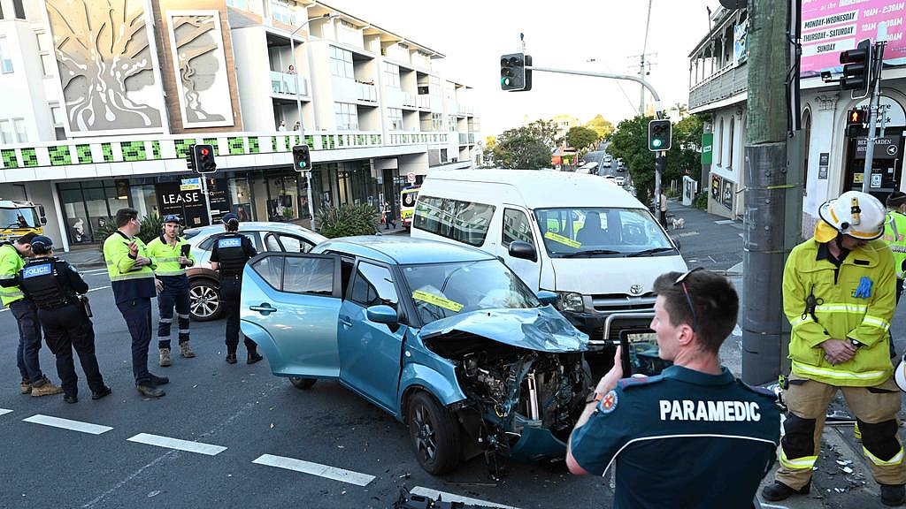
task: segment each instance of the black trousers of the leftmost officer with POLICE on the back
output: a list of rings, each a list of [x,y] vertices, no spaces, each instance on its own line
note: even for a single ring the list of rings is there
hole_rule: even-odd
[[[70,303],[55,310],[39,309],[38,320],[44,330],[44,341],[56,357],[57,375],[63,381],[66,396],[77,396],[79,392],[72,349],[79,354],[88,387],[92,392],[104,389],[98,359],[94,356],[94,328],[92,321],[85,316],[82,304]]]

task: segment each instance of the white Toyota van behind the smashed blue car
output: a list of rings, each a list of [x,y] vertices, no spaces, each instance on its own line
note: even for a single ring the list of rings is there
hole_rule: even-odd
[[[411,235],[502,258],[533,290],[559,294],[558,308],[593,345],[618,340],[623,329],[647,328],[654,280],[687,270],[651,212],[593,175],[431,172],[419,191]]]

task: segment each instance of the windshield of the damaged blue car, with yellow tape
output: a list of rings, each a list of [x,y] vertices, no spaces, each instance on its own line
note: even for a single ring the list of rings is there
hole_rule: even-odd
[[[525,283],[497,260],[406,265],[402,272],[423,323],[460,312],[540,305]]]

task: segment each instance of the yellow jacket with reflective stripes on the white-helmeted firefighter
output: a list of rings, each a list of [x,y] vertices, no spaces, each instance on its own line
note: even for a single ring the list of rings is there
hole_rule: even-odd
[[[796,245],[784,269],[793,372],[834,386],[878,385],[892,373],[887,332],[896,306],[891,250],[882,240],[870,241],[849,253],[837,274],[833,263],[816,260],[819,246],[814,237]],[[872,281],[871,295],[854,297],[863,278]],[[811,293],[817,299],[814,313],[806,310]],[[847,338],[863,344],[853,359],[836,365],[824,359],[822,342]]]

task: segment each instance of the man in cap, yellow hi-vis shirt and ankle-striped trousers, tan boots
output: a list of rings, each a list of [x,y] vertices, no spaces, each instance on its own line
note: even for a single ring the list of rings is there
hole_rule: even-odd
[[[154,282],[158,290],[158,349],[160,365],[170,365],[170,325],[173,324],[173,307],[176,306],[179,327],[179,354],[187,359],[195,357],[188,346],[188,277],[186,267],[195,264],[186,239],[179,236],[179,216],[164,217],[163,235],[148,243],[148,254],[157,264]]]

